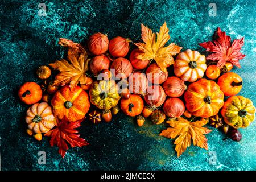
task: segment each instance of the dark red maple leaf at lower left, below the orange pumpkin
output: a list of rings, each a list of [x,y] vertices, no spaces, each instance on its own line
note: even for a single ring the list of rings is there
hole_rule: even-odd
[[[51,137],[51,146],[56,145],[59,147],[59,154],[64,158],[68,150],[67,142],[71,147],[82,147],[89,144],[85,139],[80,138],[80,135],[77,134],[78,131],[75,129],[80,126],[81,121],[68,122],[68,119],[64,117],[60,122],[57,121],[55,129],[50,130],[48,133],[44,134],[44,136]]]

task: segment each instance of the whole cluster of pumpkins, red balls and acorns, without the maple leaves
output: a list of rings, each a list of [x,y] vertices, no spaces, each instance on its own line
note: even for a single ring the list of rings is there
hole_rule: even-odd
[[[136,117],[138,126],[142,126],[147,117],[160,124],[166,116],[181,115],[209,118],[214,127],[228,125],[234,129],[247,127],[254,121],[253,103],[236,96],[242,88],[242,78],[230,72],[231,63],[221,69],[213,64],[207,66],[204,55],[188,49],[177,55],[174,67],[168,68],[174,69],[174,75],[170,76],[156,63],[151,64],[151,60],[137,59],[142,53],[139,49],[131,51],[127,59],[130,42],[120,36],[109,41],[108,36],[101,33],[90,36],[87,48],[93,55],[89,63],[93,76],[88,77],[84,85],[71,89],[69,85],[58,87],[49,82],[43,86],[43,94],[42,86],[35,82],[23,84],[19,98],[28,105],[33,104],[27,110],[27,133],[41,140],[42,133],[56,125],[56,118],[67,117],[69,122],[75,122],[84,119],[86,114],[93,123],[102,119],[110,122],[119,109]],[[51,69],[41,66],[37,74],[47,79]],[[102,74],[104,80],[97,79]],[[203,78],[204,75],[208,79]],[[224,102],[224,96],[230,97]],[[97,109],[90,107],[91,104]]]

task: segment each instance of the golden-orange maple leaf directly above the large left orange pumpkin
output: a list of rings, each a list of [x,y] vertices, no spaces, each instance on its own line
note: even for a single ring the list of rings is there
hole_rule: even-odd
[[[49,64],[52,68],[60,71],[56,75],[53,85],[63,86],[69,84],[72,89],[79,82],[81,85],[85,84],[89,62],[87,53],[85,51],[78,53],[75,49],[69,47],[67,60],[57,60],[55,63]]]

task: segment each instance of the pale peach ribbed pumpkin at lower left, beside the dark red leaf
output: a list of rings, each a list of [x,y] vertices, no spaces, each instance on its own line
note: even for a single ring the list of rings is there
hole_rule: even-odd
[[[36,103],[27,110],[26,123],[27,131],[31,135],[31,131],[35,134],[47,133],[55,126],[55,117],[52,108],[46,102]]]

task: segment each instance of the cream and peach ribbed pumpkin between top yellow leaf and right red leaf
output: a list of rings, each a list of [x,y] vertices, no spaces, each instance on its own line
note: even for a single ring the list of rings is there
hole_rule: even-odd
[[[188,49],[177,56],[174,63],[174,73],[183,81],[194,82],[204,76],[207,69],[205,61],[204,55]]]

